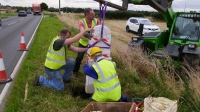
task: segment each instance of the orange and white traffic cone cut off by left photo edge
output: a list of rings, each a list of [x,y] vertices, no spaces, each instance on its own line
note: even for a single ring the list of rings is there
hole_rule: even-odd
[[[1,51],[0,51],[0,84],[7,83],[7,82],[10,82],[10,81],[12,81],[12,78],[11,77],[8,78],[7,75],[6,75],[2,54],[1,54]]]

